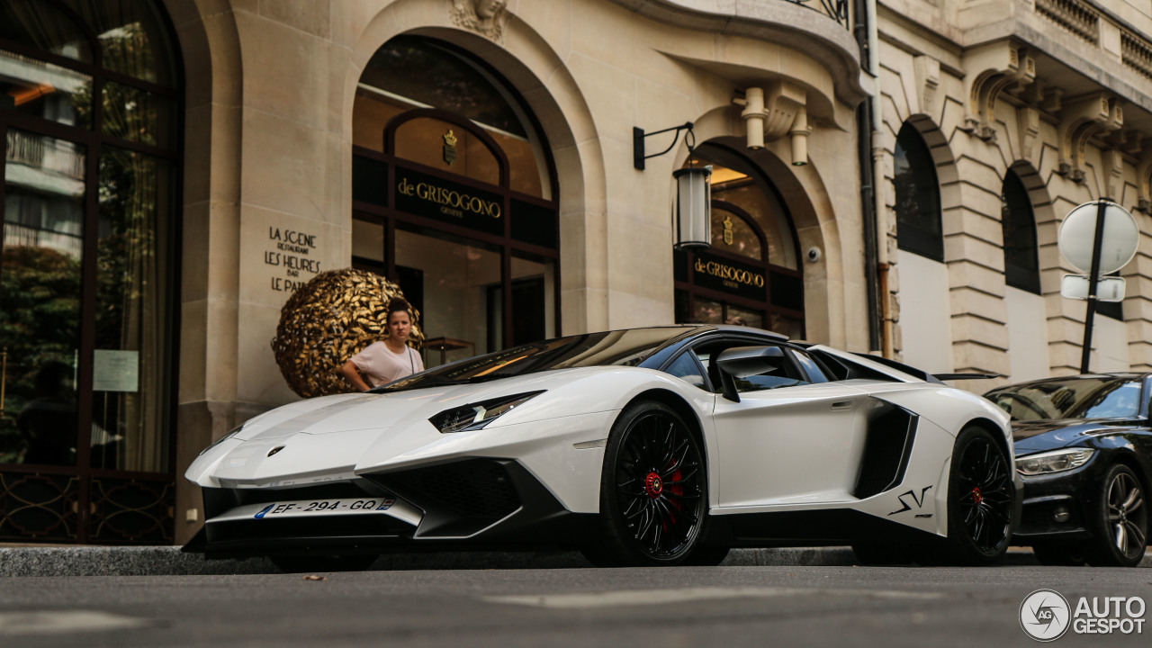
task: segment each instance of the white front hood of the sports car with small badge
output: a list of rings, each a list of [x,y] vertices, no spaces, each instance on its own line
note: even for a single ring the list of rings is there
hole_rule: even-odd
[[[619,408],[615,397],[659,376],[650,369],[588,367],[513,376],[490,383],[394,393],[340,394],[286,405],[250,420],[232,438],[202,453],[185,472],[200,485],[291,485],[355,477],[365,467],[470,435],[441,435],[432,416],[493,398],[545,391],[492,421],[487,429]],[[617,385],[612,398],[590,398]],[[599,385],[599,386],[598,386]],[[498,438],[498,437],[488,437]]]

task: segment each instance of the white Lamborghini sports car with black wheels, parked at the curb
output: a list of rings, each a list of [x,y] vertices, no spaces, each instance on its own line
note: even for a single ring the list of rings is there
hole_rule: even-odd
[[[418,548],[717,564],[850,543],[987,564],[1018,518],[1008,415],[938,377],[743,326],[569,336],[257,416],[187,477],[185,547],[357,568]]]

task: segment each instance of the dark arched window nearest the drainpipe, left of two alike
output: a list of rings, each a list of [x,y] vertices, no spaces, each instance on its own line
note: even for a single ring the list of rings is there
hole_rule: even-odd
[[[943,261],[940,184],[924,137],[904,122],[896,135],[893,184],[896,189],[896,242],[900,249]]]

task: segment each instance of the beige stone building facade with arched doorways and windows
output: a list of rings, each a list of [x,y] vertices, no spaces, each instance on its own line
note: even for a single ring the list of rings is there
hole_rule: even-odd
[[[189,538],[183,469],[297,398],[281,307],[348,266],[429,367],[744,322],[1068,371],[1060,218],[1152,232],[1152,18],[1115,5],[2,0],[0,542]],[[700,165],[711,247],[677,250]],[[1146,243],[1101,369],[1152,362]]]

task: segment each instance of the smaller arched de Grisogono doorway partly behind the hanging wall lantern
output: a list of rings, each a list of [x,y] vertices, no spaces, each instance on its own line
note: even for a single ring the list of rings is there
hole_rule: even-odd
[[[712,247],[675,251],[676,322],[744,324],[804,337],[796,231],[768,179],[730,149],[704,144],[712,166]]]

